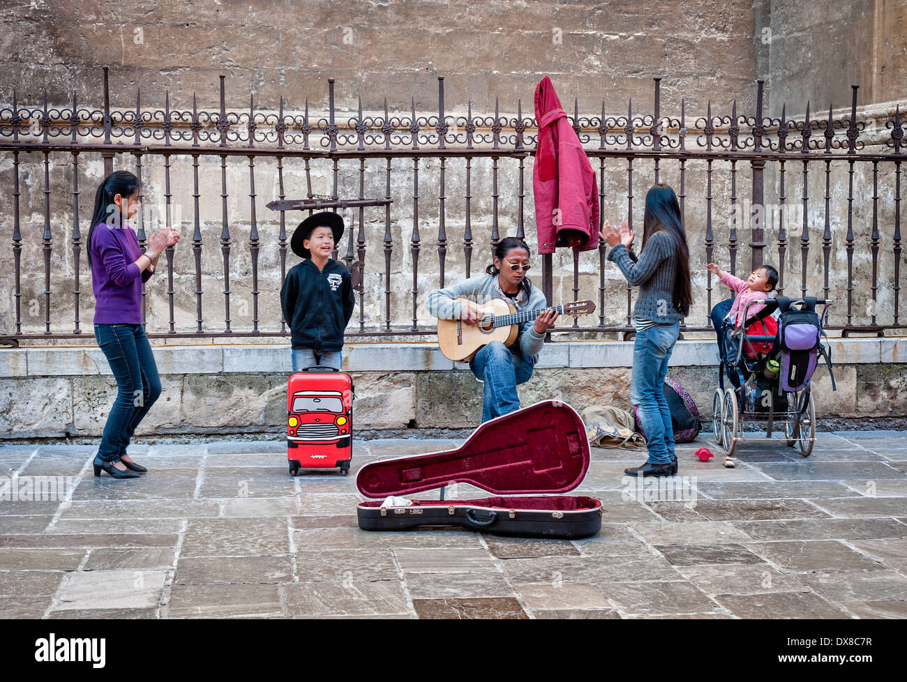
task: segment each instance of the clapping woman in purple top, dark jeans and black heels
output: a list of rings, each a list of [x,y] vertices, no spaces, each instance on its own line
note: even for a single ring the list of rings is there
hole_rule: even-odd
[[[88,230],[88,264],[94,289],[94,337],[116,379],[117,396],[94,457],[94,475],[138,478],[147,471],[132,462],[126,447],[135,427],[161,395],[154,356],[141,319],[141,285],[151,278],[164,248],[180,240],[176,230],[161,229],[141,252],[127,221],[141,208],[141,186],[129,171],[111,173],[94,198]]]

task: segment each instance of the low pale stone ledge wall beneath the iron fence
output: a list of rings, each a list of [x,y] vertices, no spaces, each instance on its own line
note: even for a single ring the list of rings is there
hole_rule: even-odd
[[[629,408],[632,343],[555,342],[542,351],[522,404],[558,399]],[[821,419],[907,416],[907,339],[830,342],[837,391],[814,375]],[[139,435],[279,434],[286,418],[287,346],[155,348],[163,391]],[[680,341],[669,375],[688,388],[704,420],[717,387],[712,341]],[[354,344],[344,366],[356,385],[357,431],[473,428],[482,386],[432,344]],[[99,436],[116,385],[98,348],[0,353],[0,438]]]

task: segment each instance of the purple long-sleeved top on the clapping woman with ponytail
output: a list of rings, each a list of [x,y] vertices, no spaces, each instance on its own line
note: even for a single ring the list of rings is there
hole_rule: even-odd
[[[92,232],[92,288],[95,325],[141,325],[141,285],[151,278],[139,270],[139,239],[132,228],[101,223]]]

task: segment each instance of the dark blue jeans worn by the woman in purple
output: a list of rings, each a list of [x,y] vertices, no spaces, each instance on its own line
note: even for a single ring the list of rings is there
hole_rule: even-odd
[[[111,365],[117,385],[98,455],[105,462],[119,462],[135,427],[161,395],[161,377],[141,325],[95,325],[94,338]]]

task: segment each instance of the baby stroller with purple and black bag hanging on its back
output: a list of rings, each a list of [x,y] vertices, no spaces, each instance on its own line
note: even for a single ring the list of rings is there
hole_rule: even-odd
[[[750,306],[765,304],[755,316],[748,317]],[[721,363],[718,385],[712,404],[712,426],[715,442],[724,445],[727,454],[746,440],[746,424],[765,424],[766,438],[784,424],[785,440],[796,446],[804,457],[813,452],[815,443],[815,401],[811,391],[818,356],[823,356],[834,385],[832,361],[821,343],[828,308],[834,301],[824,298],[768,298],[746,306],[746,324],[733,331],[723,321],[717,330]],[[822,314],[816,306],[824,306]],[[769,317],[777,315],[775,325]],[[759,323],[762,323],[761,325]],[[761,327],[761,329],[760,329]],[[764,334],[752,332],[763,331]],[[750,332],[750,333],[747,333]],[[725,387],[725,375],[734,386]]]

